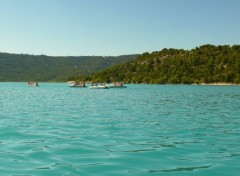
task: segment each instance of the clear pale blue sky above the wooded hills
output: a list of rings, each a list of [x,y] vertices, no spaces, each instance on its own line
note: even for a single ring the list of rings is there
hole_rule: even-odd
[[[0,0],[0,52],[117,56],[240,43],[240,0]]]

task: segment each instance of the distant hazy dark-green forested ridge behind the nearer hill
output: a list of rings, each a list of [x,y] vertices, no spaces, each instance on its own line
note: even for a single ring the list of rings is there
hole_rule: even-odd
[[[67,81],[133,60],[137,56],[50,57],[0,53],[0,81]]]

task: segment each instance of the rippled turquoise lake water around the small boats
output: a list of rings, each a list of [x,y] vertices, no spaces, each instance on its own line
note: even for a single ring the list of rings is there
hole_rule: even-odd
[[[0,175],[237,176],[240,86],[0,83]]]

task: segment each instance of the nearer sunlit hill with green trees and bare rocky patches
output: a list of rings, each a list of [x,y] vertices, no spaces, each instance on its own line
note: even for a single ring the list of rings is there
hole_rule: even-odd
[[[240,83],[240,45],[163,49],[94,73],[85,80],[148,84]]]

